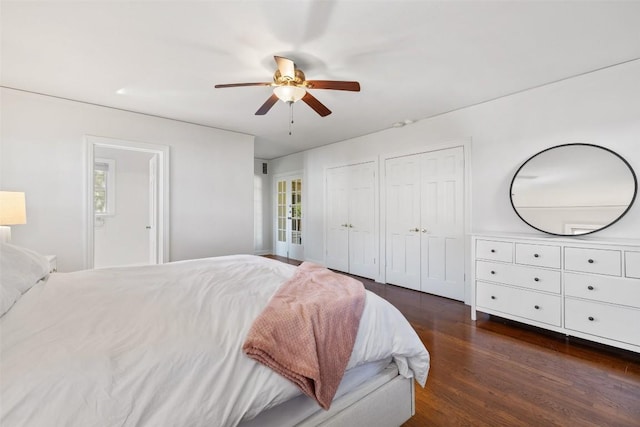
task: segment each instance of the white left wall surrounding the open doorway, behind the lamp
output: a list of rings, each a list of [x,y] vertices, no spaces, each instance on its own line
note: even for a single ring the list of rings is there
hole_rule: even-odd
[[[13,242],[84,268],[87,134],[170,147],[170,258],[252,253],[253,137],[2,88],[0,188],[24,191]]]

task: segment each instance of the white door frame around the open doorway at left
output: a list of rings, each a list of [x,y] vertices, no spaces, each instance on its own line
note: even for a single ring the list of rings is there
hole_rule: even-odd
[[[156,263],[162,264],[169,261],[169,147],[166,145],[149,144],[146,142],[128,141],[123,139],[108,138],[96,135],[85,135],[85,261],[84,268],[94,267],[95,254],[95,212],[93,205],[93,164],[96,147],[112,148],[116,150],[140,151],[157,155],[158,169],[156,183],[158,187],[156,204]],[[150,255],[150,257],[153,254]]]

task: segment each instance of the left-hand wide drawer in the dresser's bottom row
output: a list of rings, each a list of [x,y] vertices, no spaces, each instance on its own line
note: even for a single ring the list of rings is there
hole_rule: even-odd
[[[477,282],[476,305],[492,311],[560,326],[560,296]]]

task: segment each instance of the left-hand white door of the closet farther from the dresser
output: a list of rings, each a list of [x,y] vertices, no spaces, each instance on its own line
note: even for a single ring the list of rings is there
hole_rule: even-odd
[[[327,267],[349,271],[349,169],[327,171]]]

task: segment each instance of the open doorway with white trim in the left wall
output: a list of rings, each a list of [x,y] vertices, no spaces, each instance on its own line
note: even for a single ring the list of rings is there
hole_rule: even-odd
[[[87,268],[166,262],[169,148],[96,136],[86,145]]]

